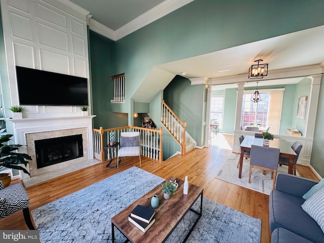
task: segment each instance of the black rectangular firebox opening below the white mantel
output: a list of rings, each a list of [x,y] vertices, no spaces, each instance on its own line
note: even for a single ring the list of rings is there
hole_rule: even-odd
[[[82,134],[35,140],[37,169],[83,156]]]

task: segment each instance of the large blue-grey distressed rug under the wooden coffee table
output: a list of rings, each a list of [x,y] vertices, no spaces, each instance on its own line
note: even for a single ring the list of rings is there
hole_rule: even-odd
[[[35,209],[31,214],[41,242],[111,242],[110,219],[163,181],[132,167]],[[189,211],[167,242],[182,242],[196,217]],[[203,216],[187,242],[260,242],[260,234],[260,219],[204,197]],[[115,237],[125,241],[118,230]]]

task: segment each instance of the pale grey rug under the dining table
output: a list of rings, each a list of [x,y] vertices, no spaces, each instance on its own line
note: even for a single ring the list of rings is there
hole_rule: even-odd
[[[273,184],[271,173],[266,172],[266,175],[263,175],[262,170],[253,168],[250,184],[250,159],[243,159],[241,178],[238,178],[238,168],[236,168],[238,159],[239,154],[231,153],[221,170],[218,172],[216,178],[269,195]],[[288,166],[278,166],[277,173],[288,173]],[[296,174],[298,175],[298,172],[296,172]]]

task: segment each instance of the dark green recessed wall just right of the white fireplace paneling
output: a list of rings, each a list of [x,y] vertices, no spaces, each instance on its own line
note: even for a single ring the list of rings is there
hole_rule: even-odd
[[[128,114],[112,112],[113,99],[110,48],[113,43],[108,38],[89,31],[89,55],[91,66],[92,113],[94,128],[104,129],[128,126]]]

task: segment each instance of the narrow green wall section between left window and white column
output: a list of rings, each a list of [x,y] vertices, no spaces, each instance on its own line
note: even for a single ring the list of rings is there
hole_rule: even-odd
[[[225,90],[223,133],[234,134],[237,89]]]

